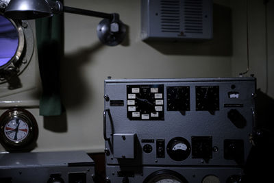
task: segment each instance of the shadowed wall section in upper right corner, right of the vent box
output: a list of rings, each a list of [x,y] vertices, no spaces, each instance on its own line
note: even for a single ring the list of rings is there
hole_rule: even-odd
[[[247,12],[249,34],[249,72],[257,86],[274,97],[274,1],[231,1],[233,27],[232,75],[247,71]],[[267,27],[267,28],[266,28]],[[267,38],[266,38],[267,36]],[[266,41],[267,40],[267,41]],[[266,51],[267,49],[267,51]]]

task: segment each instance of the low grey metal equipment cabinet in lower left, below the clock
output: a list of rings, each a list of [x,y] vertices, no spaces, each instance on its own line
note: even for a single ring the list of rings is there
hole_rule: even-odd
[[[0,182],[92,183],[95,163],[84,151],[0,154]]]

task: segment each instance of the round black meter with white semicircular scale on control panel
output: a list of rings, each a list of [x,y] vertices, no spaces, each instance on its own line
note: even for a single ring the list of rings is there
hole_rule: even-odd
[[[190,155],[191,147],[186,138],[175,137],[167,144],[166,151],[175,161],[182,161]]]

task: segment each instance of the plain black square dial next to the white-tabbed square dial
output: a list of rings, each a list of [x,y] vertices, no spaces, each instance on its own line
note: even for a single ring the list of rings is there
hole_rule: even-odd
[[[166,100],[168,111],[190,110],[189,86],[168,86],[166,87]]]

